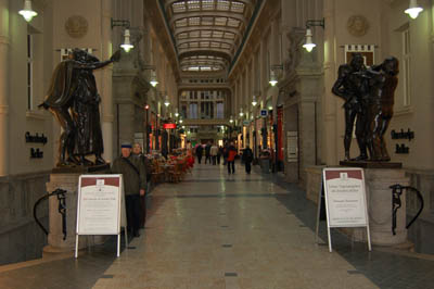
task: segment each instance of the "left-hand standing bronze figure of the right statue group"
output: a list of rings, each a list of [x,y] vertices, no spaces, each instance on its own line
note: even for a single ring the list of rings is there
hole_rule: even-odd
[[[349,64],[343,64],[337,71],[337,80],[334,83],[332,92],[345,100],[345,161],[349,158],[349,148],[353,138],[354,122],[356,121],[356,137],[360,149],[360,155],[355,161],[368,159],[366,146],[366,126],[367,126],[367,103],[369,89],[365,85],[367,78],[363,76],[366,66],[363,56],[360,53],[353,53]]]

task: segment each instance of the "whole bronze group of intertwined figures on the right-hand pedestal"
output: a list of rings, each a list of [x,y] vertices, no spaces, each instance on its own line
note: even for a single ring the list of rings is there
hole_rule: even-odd
[[[393,116],[398,73],[399,62],[396,58],[387,58],[380,65],[367,67],[360,53],[353,53],[349,64],[339,67],[332,92],[345,101],[345,161],[391,160],[384,134]],[[355,122],[360,155],[350,159]]]

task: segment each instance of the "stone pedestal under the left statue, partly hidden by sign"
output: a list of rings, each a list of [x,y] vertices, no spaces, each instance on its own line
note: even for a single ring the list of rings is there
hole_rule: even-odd
[[[100,166],[99,169],[88,169],[85,167],[54,168],[50,175],[50,183],[47,183],[47,191],[52,192],[56,189],[66,190],[66,239],[63,239],[62,215],[59,213],[59,201],[56,197],[50,197],[49,216],[50,228],[48,235],[48,246],[43,252],[69,252],[75,249],[75,233],[77,223],[77,200],[78,200],[78,179],[82,174],[104,174],[110,168],[108,165]],[[95,172],[97,171],[97,172]],[[105,240],[103,236],[82,236],[79,238],[79,249],[101,243]]]

